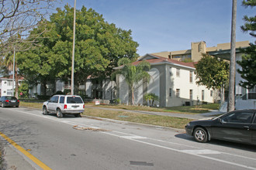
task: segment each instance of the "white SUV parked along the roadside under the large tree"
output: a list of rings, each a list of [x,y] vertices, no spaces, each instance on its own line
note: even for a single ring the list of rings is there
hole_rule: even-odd
[[[74,114],[75,117],[81,117],[85,110],[84,101],[80,96],[74,95],[54,95],[50,100],[43,102],[43,114],[54,112],[57,117],[63,117],[64,114]]]

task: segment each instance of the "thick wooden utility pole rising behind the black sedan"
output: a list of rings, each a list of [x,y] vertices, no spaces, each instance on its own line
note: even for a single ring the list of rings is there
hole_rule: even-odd
[[[230,87],[227,111],[234,110],[234,86],[236,73],[236,21],[237,21],[237,0],[233,0],[232,5],[232,22],[231,22],[231,45],[230,45]]]

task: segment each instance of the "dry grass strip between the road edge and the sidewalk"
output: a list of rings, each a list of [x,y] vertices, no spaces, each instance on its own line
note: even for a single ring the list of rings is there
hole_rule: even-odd
[[[184,128],[185,124],[188,124],[189,121],[192,121],[192,119],[187,118],[136,114],[126,111],[101,110],[97,108],[86,108],[83,114],[92,117],[103,117],[119,121],[130,121],[140,124],[152,124],[168,128],[182,129]]]

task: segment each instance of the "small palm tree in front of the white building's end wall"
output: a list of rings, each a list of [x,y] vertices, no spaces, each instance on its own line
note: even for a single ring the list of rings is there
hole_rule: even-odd
[[[130,59],[122,58],[119,59],[118,66],[121,66],[121,69],[115,74],[124,76],[126,83],[130,87],[132,93],[132,105],[134,105],[134,90],[137,83],[139,83],[140,80],[150,81],[150,74],[147,73],[147,71],[150,70],[150,63],[141,61],[137,66],[134,66]]]

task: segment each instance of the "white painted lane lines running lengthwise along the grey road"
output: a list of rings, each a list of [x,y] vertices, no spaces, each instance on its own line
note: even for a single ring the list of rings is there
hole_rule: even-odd
[[[47,118],[51,121],[58,121],[58,122],[61,122],[61,123],[64,123],[64,124],[77,125],[77,123],[74,123],[74,122],[71,122],[71,121],[58,120],[59,118],[56,118],[56,117],[48,117],[48,116],[45,116],[45,115],[31,114],[31,113],[28,113],[28,112],[25,112],[25,111],[20,111],[20,110],[16,110],[16,111],[21,112],[23,114],[30,114],[30,115],[37,116],[37,117]],[[85,126],[85,124],[80,124],[80,125]],[[119,132],[119,131],[115,131],[115,132]],[[146,145],[152,145],[152,146],[155,146],[155,147],[158,147],[158,148],[164,148],[164,149],[168,149],[168,150],[171,150],[171,151],[177,151],[177,152],[181,152],[181,153],[188,154],[188,155],[195,155],[195,156],[198,156],[198,157],[201,157],[201,158],[210,159],[210,160],[213,160],[213,161],[216,161],[216,162],[223,162],[223,163],[227,163],[229,165],[235,165],[235,166],[238,166],[238,167],[241,167],[241,168],[248,168],[248,169],[256,170],[255,167],[251,167],[251,166],[247,166],[247,165],[241,165],[241,164],[237,164],[237,163],[234,163],[234,162],[224,161],[224,160],[219,159],[219,158],[212,158],[212,157],[203,155],[203,152],[205,152],[206,154],[207,153],[212,154],[214,151],[211,151],[211,150],[208,150],[208,152],[205,149],[202,149],[201,150],[202,152],[196,152],[195,150],[178,150],[178,149],[175,149],[175,148],[165,147],[165,146],[162,146],[162,145],[155,145],[155,144],[152,144],[152,143],[149,143],[149,142],[146,142],[146,141],[139,141],[138,139],[145,138],[145,137],[135,136],[133,134],[129,134],[130,137],[128,137],[128,136],[123,136],[123,135],[118,135],[118,134],[112,134],[111,132],[106,132],[106,131],[99,131],[99,133],[109,134],[109,135],[112,135],[112,136],[116,136],[118,138],[125,138],[125,139],[130,140],[130,141],[137,141],[139,143],[143,143],[143,144],[146,144]],[[126,133],[123,133],[123,132],[119,132],[119,133],[126,134]],[[156,141],[160,141],[160,140],[156,140]],[[171,142],[171,143],[173,143],[173,142]],[[191,147],[191,146],[188,146],[188,147]],[[218,151],[216,151],[216,152],[218,152]],[[233,155],[233,154],[225,153],[225,152],[219,152],[219,153],[216,153],[216,154],[227,154],[227,155],[232,155],[232,156],[236,156],[236,157],[240,157],[240,158],[247,158],[247,159],[251,159],[251,160],[256,160],[254,158],[248,158],[248,157],[244,157],[244,156],[240,156],[240,155]]]

